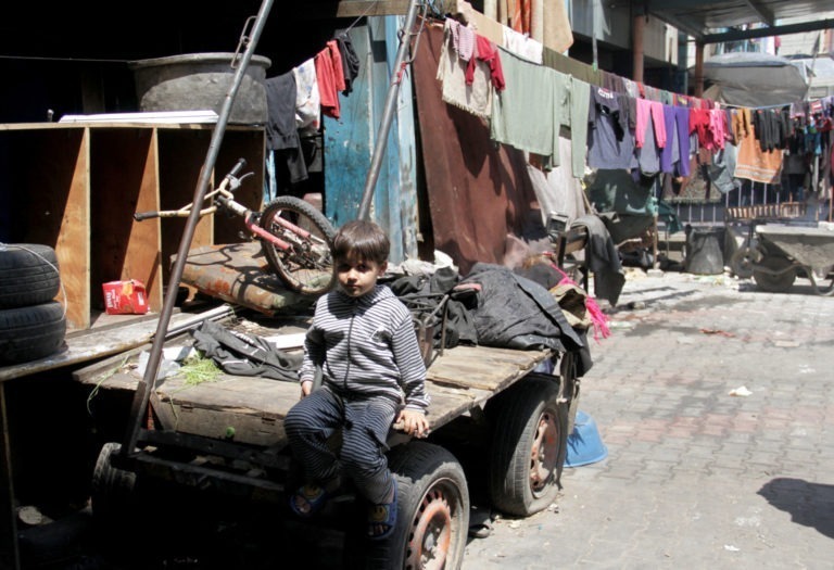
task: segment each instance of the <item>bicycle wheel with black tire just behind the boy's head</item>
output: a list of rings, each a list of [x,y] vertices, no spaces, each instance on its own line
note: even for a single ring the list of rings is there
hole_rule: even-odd
[[[324,214],[300,198],[282,195],[267,204],[258,225],[282,242],[261,238],[269,265],[288,289],[308,295],[330,290],[336,230]]]

